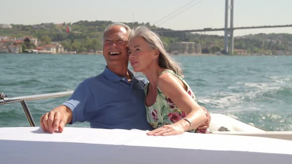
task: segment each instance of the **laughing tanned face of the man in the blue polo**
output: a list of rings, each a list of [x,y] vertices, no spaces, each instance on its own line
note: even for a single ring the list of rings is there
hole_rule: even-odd
[[[128,35],[124,27],[112,26],[103,37],[103,56],[107,67],[128,67]]]

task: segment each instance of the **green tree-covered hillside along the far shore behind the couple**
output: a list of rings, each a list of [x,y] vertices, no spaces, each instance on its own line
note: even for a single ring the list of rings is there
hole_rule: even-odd
[[[42,23],[39,25],[15,25],[12,28],[1,29],[0,36],[25,37],[32,36],[48,43],[59,42],[67,51],[90,52],[102,49],[101,36],[103,30],[110,25],[111,21],[78,21],[75,23]],[[146,26],[157,31],[166,43],[190,41],[199,43],[202,51],[212,53],[223,50],[224,41],[222,36],[199,35],[192,33],[168,32],[171,29],[157,28],[149,23],[126,23],[131,28]],[[67,33],[67,27],[69,32]],[[257,34],[237,37],[234,41],[235,49],[245,49],[248,53],[277,54],[279,51],[292,54],[292,34]]]

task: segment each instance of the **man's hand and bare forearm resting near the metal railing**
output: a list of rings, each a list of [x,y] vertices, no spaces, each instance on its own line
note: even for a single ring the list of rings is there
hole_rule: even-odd
[[[45,132],[53,133],[55,130],[62,132],[64,126],[72,121],[72,111],[70,108],[60,105],[41,116],[40,124]]]

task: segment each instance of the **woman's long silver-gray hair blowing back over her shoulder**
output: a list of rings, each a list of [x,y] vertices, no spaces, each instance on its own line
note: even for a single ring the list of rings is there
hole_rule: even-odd
[[[159,56],[158,56],[159,67],[170,69],[175,74],[182,76],[183,71],[180,64],[167,54],[163,46],[163,42],[161,41],[160,37],[156,33],[152,32],[146,27],[139,26],[137,28],[134,28],[131,31],[129,35],[129,41],[131,41],[131,39],[135,37],[143,38],[147,42],[150,48],[157,49],[159,51]]]

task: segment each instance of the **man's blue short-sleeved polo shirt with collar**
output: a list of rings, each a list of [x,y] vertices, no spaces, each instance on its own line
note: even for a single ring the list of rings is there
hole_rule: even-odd
[[[153,129],[146,120],[146,80],[128,72],[130,83],[107,67],[96,77],[81,82],[62,104],[72,110],[72,123],[87,121],[91,127],[107,129]]]

